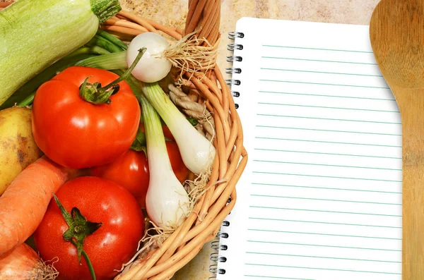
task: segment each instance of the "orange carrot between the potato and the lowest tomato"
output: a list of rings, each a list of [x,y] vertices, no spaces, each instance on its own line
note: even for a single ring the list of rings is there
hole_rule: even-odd
[[[24,243],[42,221],[52,193],[76,175],[43,156],[24,169],[0,197],[0,256]]]

